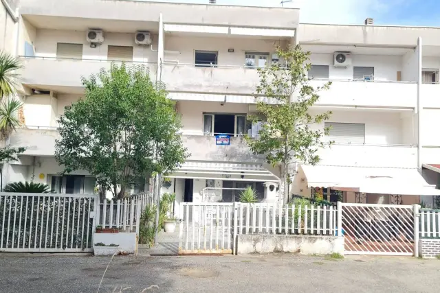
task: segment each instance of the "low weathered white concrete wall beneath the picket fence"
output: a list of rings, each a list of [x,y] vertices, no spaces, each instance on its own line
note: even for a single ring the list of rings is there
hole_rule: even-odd
[[[344,255],[344,237],[307,235],[237,235],[238,255],[250,253],[300,253]]]

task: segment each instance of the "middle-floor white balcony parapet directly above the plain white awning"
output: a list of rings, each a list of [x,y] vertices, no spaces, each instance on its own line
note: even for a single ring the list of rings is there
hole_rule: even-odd
[[[319,151],[320,165],[417,167],[417,146],[335,144]]]

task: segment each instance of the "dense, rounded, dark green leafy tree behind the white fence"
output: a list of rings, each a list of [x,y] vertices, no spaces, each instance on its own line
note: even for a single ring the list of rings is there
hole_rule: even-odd
[[[136,178],[171,172],[185,161],[175,105],[144,67],[112,64],[83,84],[85,99],[58,119],[55,157],[64,173],[87,170],[123,198]]]

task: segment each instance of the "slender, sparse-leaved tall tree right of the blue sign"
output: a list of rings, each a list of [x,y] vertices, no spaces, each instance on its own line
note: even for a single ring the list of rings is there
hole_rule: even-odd
[[[309,108],[318,101],[318,91],[329,89],[331,82],[317,89],[309,84],[307,71],[311,65],[307,64],[307,60],[310,53],[303,51],[299,45],[287,49],[277,47],[277,53],[281,60],[285,60],[286,67],[274,63],[258,69],[257,115],[252,115],[250,120],[263,120],[265,123],[258,139],[246,137],[246,141],[254,154],[265,154],[267,163],[281,166],[284,198],[288,195],[294,175],[292,164],[315,165],[320,161],[318,150],[329,144],[322,140],[329,129],[313,130],[309,125],[329,119],[331,112],[312,115]]]

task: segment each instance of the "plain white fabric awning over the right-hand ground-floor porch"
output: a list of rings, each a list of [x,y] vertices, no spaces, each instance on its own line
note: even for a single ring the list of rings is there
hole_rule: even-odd
[[[440,196],[417,169],[302,165],[307,187],[407,196]]]

